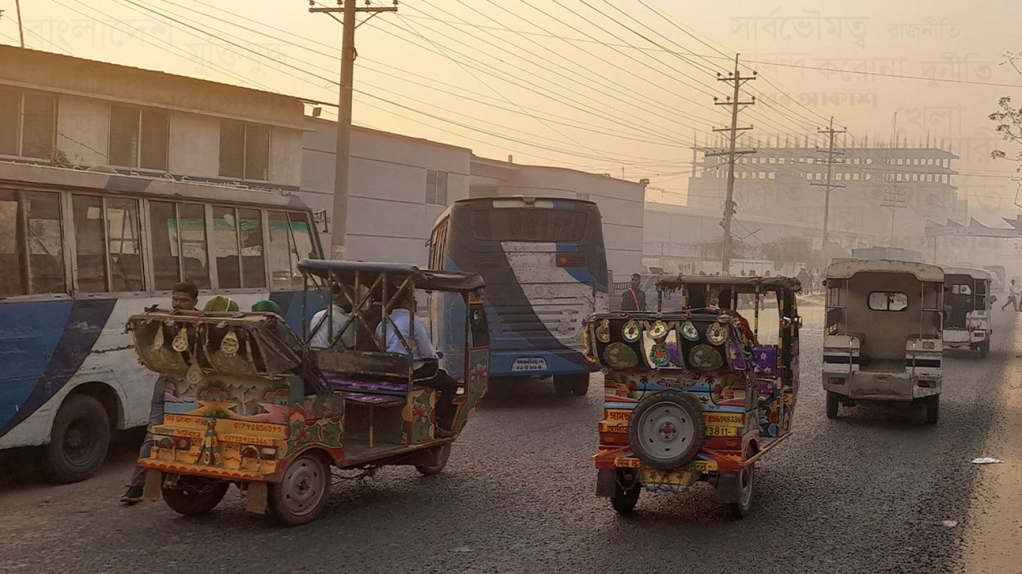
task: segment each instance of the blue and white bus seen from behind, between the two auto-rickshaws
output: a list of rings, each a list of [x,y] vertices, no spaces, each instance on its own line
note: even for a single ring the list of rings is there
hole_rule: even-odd
[[[608,307],[596,203],[519,196],[455,201],[433,227],[430,267],[478,273],[485,281],[493,377],[553,377],[558,393],[586,394],[597,367],[583,354],[583,322]],[[460,324],[457,307],[431,305],[433,340],[454,351],[443,337],[446,323]]]

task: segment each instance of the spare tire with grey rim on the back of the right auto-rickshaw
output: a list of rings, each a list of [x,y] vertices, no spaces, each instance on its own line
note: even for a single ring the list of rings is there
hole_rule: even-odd
[[[632,451],[647,466],[672,470],[699,451],[706,422],[699,400],[687,392],[664,391],[642,399],[629,421]]]

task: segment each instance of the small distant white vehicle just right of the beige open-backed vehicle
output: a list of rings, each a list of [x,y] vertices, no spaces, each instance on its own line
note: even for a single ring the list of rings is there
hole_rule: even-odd
[[[944,348],[990,352],[990,274],[964,268],[944,268]]]

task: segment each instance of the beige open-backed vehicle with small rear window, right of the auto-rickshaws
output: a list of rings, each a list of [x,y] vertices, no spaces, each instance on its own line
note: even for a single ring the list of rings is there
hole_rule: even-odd
[[[944,272],[910,261],[827,268],[827,418],[858,400],[923,402],[939,415]]]

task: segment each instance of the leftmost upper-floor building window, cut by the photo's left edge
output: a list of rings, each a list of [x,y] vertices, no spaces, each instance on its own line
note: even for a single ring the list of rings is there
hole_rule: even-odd
[[[56,139],[57,99],[0,89],[0,154],[49,157]]]

